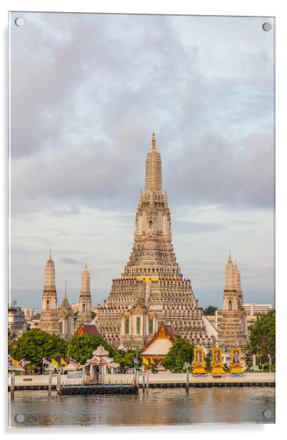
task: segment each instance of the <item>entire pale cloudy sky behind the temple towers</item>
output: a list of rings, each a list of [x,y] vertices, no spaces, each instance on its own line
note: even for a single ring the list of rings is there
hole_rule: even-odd
[[[228,251],[274,304],[273,29],[256,17],[11,13],[11,299],[92,304],[124,271],[156,132],[173,247],[203,307]]]

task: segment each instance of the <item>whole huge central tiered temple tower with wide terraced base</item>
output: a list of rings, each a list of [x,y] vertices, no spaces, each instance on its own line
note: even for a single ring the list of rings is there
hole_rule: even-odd
[[[146,156],[145,190],[139,194],[136,211],[134,246],[96,322],[114,346],[141,347],[165,321],[176,334],[210,348],[213,336],[206,333],[201,314],[191,281],[183,278],[173,252],[171,215],[161,185],[161,155],[153,134]]]

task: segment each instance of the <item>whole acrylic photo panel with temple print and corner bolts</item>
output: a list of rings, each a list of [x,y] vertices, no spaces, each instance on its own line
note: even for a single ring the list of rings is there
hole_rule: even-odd
[[[275,423],[274,38],[9,14],[9,426]]]

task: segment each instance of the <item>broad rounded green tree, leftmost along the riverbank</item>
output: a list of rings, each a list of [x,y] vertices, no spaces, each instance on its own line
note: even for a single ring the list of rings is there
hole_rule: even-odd
[[[9,354],[14,359],[30,361],[41,365],[43,358],[61,359],[66,357],[67,342],[57,334],[49,334],[41,329],[24,331],[16,344],[9,346]]]

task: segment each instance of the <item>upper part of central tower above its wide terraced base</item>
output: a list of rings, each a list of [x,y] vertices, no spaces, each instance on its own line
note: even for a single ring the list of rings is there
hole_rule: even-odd
[[[147,239],[148,237],[148,239]],[[146,183],[139,194],[136,233],[125,276],[165,276],[181,278],[171,242],[171,216],[166,191],[161,188],[161,154],[153,133],[146,155]]]

